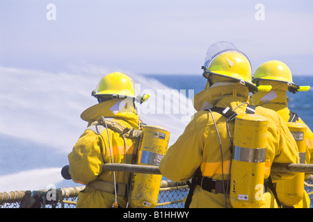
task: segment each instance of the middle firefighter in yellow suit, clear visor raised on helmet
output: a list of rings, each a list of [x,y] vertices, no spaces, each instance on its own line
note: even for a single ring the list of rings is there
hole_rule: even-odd
[[[194,108],[198,112],[175,144],[168,148],[159,169],[163,176],[177,182],[188,181],[200,169],[200,180],[193,190],[189,207],[232,207],[226,193],[230,189],[226,185],[230,180],[230,138],[233,138],[234,122],[230,121],[228,129],[226,117],[207,109],[229,107],[237,114],[243,114],[250,103],[249,91],[257,88],[251,83],[248,58],[230,42],[217,42],[210,46],[202,68],[207,86],[195,95]],[[255,114],[268,119],[265,178],[271,175],[273,182],[293,178],[295,173],[271,172],[273,162],[299,162],[296,142],[286,123],[273,110],[257,107]],[[208,181],[205,185],[204,180]],[[271,198],[270,194],[265,195],[265,207],[270,206],[271,199],[268,198]]]

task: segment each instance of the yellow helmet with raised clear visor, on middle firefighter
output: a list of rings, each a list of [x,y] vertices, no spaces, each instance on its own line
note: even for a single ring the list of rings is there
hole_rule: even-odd
[[[247,56],[231,42],[217,42],[209,47],[204,62],[203,76],[210,81],[211,75],[230,78],[232,82],[246,85],[250,92],[257,91],[251,82],[252,69]],[[210,84],[211,85],[211,84]]]

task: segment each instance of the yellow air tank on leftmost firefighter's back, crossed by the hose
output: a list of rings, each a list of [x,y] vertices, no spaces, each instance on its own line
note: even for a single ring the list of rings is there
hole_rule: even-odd
[[[159,166],[168,149],[170,132],[159,126],[143,126],[138,148],[139,165]],[[154,208],[159,198],[162,175],[134,173],[129,194],[132,208]]]

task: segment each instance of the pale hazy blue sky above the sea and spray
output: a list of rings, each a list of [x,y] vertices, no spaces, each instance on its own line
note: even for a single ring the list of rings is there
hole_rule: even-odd
[[[56,20],[47,20],[47,5]],[[264,20],[255,19],[258,3]],[[252,69],[282,60],[311,74],[312,1],[29,0],[0,2],[0,66],[138,74],[201,74],[207,48],[227,40]]]

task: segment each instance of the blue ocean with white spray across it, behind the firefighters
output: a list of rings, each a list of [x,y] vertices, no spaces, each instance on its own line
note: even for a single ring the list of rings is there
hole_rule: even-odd
[[[64,180],[61,168],[86,128],[81,112],[97,103],[90,93],[107,72],[74,69],[55,74],[6,67],[0,71],[0,191],[79,186]],[[141,119],[168,128],[170,144],[174,143],[195,112],[193,95],[204,89],[206,80],[202,74],[130,76],[141,94],[152,95],[141,106]],[[295,76],[294,82],[313,86],[313,77]],[[312,90],[289,94],[289,107],[310,128]]]

